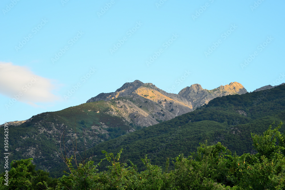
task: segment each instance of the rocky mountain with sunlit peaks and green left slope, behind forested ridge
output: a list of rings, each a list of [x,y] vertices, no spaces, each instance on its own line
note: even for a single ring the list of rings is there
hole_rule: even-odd
[[[188,113],[215,97],[246,93],[237,82],[213,90],[191,85],[179,94],[166,93],[152,83],[125,83],[113,93],[101,93],[87,103],[61,111],[35,115],[25,121],[8,122],[9,158],[33,158],[34,163],[62,175],[60,145],[82,152],[105,141]],[[0,126],[3,130],[3,125]],[[4,137],[4,132],[0,138]],[[64,140],[65,139],[65,140]],[[3,150],[4,151],[4,150]],[[70,155],[70,153],[67,153]],[[3,160],[0,161],[3,164]],[[55,167],[57,166],[57,167]]]

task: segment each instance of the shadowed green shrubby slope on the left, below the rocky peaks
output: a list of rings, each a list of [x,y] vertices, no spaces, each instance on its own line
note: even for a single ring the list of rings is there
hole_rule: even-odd
[[[20,126],[9,126],[9,149],[13,151],[9,159],[21,160],[33,157],[34,163],[37,163],[36,169],[50,168],[51,176],[62,176],[64,163],[54,158],[58,158],[56,154],[59,150],[58,141],[64,130],[67,148],[72,148],[72,142],[68,140],[72,140],[71,134],[76,133],[78,136],[77,150],[80,152],[102,141],[126,134],[126,130],[130,130],[129,123],[122,118],[105,114],[109,111],[109,107],[109,102],[91,102],[57,112],[42,113],[33,116],[30,122],[25,122]],[[102,123],[109,126],[108,130],[111,131],[109,136],[98,134],[99,128],[91,128],[91,126],[102,126]],[[137,126],[133,127],[137,128]],[[50,132],[48,133],[47,130]],[[4,138],[3,135],[4,132],[0,134],[0,138]],[[91,138],[86,138],[86,136]],[[95,136],[98,138],[94,138]],[[0,163],[4,165],[4,160],[1,159]],[[0,172],[3,171],[4,168],[1,167]]]

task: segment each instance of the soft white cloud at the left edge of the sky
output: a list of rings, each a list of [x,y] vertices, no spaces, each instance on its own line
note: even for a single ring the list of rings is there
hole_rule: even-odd
[[[28,104],[53,102],[59,98],[52,94],[50,79],[35,75],[28,68],[0,62],[0,93]]]

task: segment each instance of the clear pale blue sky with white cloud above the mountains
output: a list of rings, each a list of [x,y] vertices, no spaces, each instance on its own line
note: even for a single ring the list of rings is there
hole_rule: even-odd
[[[237,81],[247,91],[284,83],[284,5],[2,0],[0,123],[79,105],[137,79],[173,93],[195,83]]]

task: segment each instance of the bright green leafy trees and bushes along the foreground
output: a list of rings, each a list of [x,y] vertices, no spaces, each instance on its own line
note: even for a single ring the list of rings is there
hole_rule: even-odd
[[[152,165],[147,155],[141,159],[145,170],[138,172],[130,160],[102,151],[105,158],[94,165],[79,155],[65,158],[66,175],[51,178],[48,172],[35,170],[32,159],[13,161],[8,172],[9,185],[1,174],[0,189],[285,189],[285,140],[279,132],[282,122],[262,135],[251,134],[256,154],[232,154],[220,142],[209,146],[207,141],[187,158],[179,154],[166,158],[166,167]],[[105,171],[97,167],[109,163]],[[170,169],[170,163],[174,169]],[[75,168],[73,167],[75,166]]]

